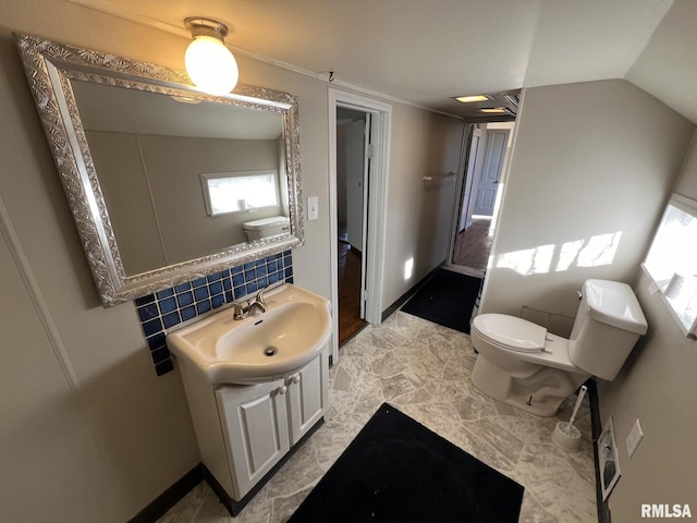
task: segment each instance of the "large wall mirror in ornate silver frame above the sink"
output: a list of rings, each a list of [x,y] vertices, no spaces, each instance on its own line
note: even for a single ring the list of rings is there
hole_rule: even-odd
[[[14,36],[105,306],[303,244],[295,96]]]

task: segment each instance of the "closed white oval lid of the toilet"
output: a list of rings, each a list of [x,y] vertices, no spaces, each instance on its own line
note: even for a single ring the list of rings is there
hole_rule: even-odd
[[[540,352],[545,349],[547,329],[527,319],[506,314],[481,314],[473,323],[477,332],[512,351]]]

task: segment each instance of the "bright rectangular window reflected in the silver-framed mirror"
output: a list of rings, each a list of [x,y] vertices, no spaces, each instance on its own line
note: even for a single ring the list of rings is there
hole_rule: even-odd
[[[208,216],[279,205],[276,171],[201,174]]]

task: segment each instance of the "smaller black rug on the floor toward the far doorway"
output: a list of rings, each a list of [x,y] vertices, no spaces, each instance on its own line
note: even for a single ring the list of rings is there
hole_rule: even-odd
[[[481,279],[438,269],[402,311],[435,324],[469,333],[472,308]]]

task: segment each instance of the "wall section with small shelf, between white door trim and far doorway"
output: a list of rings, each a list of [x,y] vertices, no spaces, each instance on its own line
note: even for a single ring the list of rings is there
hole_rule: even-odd
[[[464,124],[460,120],[395,106],[388,181],[382,309],[445,260],[455,205]],[[399,139],[395,139],[399,138]],[[411,278],[404,266],[414,259]]]

